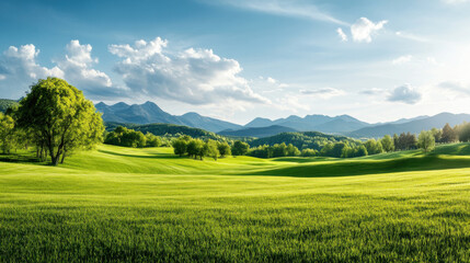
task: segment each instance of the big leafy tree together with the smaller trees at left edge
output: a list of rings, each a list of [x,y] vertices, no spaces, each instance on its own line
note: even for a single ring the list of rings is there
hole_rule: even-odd
[[[20,101],[0,115],[4,153],[33,145],[42,160],[54,165],[77,149],[90,149],[103,139],[104,125],[93,103],[77,88],[58,78],[39,80]]]

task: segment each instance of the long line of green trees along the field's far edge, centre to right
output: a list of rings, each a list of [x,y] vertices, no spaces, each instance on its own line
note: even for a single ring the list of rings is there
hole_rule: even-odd
[[[306,148],[308,144],[299,141],[303,138],[305,134],[314,135],[317,140],[309,139],[311,146],[317,149]],[[334,157],[334,158],[354,158],[371,155],[379,155],[382,152],[423,149],[425,152],[434,149],[436,144],[447,144],[455,141],[469,141],[470,140],[470,124],[463,123],[451,128],[448,124],[442,129],[433,128],[432,130],[423,130],[417,137],[411,133],[402,133],[393,135],[393,137],[386,135],[380,139],[369,139],[367,141],[353,140],[346,137],[329,136],[320,133],[285,133],[270,138],[264,138],[265,141],[277,141],[278,139],[286,138],[288,141],[297,141],[297,145],[305,147],[299,150],[294,144],[274,144],[261,145],[250,147],[249,144],[236,141],[214,141],[193,139],[190,136],[182,136],[173,140],[172,146],[174,152],[180,156],[199,157],[205,156],[251,156],[256,158],[278,158],[278,157]],[[312,138],[311,137],[311,138]],[[333,141],[337,138],[340,141]],[[255,140],[256,141],[256,140]],[[324,144],[321,146],[321,144]],[[209,147],[209,145],[214,145]],[[222,147],[222,150],[221,148]],[[213,150],[210,150],[213,149]],[[219,153],[217,153],[219,150]],[[217,158],[215,158],[217,159]]]

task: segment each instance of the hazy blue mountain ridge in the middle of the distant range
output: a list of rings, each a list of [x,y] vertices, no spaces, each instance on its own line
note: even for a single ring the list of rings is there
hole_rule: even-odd
[[[317,130],[331,134],[342,134],[370,126],[370,124],[360,122],[349,115],[335,117],[325,115],[307,115],[303,118],[291,115],[287,118],[278,118],[275,121],[257,117],[248,123],[245,127],[267,127],[272,125],[279,125],[301,132]]]

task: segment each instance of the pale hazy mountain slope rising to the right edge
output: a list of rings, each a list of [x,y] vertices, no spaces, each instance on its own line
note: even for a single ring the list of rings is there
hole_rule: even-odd
[[[366,137],[382,137],[385,135],[393,135],[401,133],[419,134],[422,130],[432,128],[442,128],[446,123],[450,126],[461,124],[463,122],[470,122],[470,114],[452,114],[452,113],[440,113],[431,117],[416,118],[406,123],[388,123],[366,128],[360,128],[355,132],[346,133],[345,135],[356,138]]]

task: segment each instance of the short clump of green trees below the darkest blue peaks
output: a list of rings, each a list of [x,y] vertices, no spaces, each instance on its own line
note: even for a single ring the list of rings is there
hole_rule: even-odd
[[[141,132],[128,129],[123,126],[117,126],[113,132],[106,134],[104,144],[144,148],[144,147],[159,147],[162,140],[159,136],[147,133],[144,135]]]

